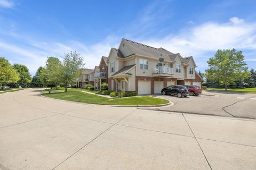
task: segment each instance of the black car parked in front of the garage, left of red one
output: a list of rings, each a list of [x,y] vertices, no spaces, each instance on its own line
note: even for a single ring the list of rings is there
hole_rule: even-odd
[[[177,95],[178,97],[187,97],[189,95],[188,88],[186,86],[173,85],[161,90],[162,95]]]

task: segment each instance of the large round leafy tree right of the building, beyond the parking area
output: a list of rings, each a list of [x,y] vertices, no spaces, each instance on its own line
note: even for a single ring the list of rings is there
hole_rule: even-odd
[[[206,79],[218,81],[220,85],[225,86],[225,90],[229,84],[249,76],[242,51],[236,52],[234,48],[231,50],[219,49],[207,63],[210,68],[205,70]]]

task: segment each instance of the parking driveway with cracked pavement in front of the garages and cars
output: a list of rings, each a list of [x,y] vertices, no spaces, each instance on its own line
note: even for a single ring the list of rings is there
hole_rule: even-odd
[[[154,108],[157,111],[256,119],[256,94],[203,91],[203,95],[182,98],[154,96],[171,100],[175,104],[171,107]]]

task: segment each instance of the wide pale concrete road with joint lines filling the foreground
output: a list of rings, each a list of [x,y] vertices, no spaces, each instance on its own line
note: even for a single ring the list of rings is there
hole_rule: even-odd
[[[255,169],[256,121],[0,95],[0,169]],[[180,99],[182,100],[182,99]]]

